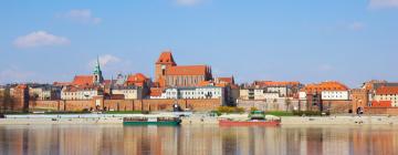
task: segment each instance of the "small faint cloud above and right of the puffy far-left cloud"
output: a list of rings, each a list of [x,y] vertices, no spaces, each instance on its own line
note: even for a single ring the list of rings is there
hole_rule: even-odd
[[[56,16],[57,18],[67,19],[74,22],[80,23],[101,23],[102,19],[93,16],[92,11],[88,9],[82,10],[70,10],[69,12],[61,13]]]

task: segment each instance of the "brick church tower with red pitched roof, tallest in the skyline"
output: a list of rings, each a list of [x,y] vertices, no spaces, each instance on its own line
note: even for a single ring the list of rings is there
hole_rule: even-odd
[[[177,63],[172,58],[171,51],[164,51],[155,63],[155,80],[163,85],[161,83],[165,83],[166,80],[167,69],[176,65]]]

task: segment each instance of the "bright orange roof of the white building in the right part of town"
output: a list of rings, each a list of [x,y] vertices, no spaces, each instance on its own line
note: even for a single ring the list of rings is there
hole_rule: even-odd
[[[348,91],[348,87],[343,83],[336,81],[327,81],[322,83],[307,84],[302,91],[306,91],[306,92]]]

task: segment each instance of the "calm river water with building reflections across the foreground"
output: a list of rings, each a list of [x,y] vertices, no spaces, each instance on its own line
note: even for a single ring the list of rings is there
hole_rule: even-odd
[[[1,155],[397,155],[394,126],[0,126]]]

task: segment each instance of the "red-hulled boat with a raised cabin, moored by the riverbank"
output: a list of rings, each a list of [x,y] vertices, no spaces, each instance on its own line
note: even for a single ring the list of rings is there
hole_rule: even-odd
[[[266,120],[265,112],[253,111],[249,114],[249,120],[240,121],[232,118],[223,118],[219,121],[221,126],[279,126],[280,120]]]

